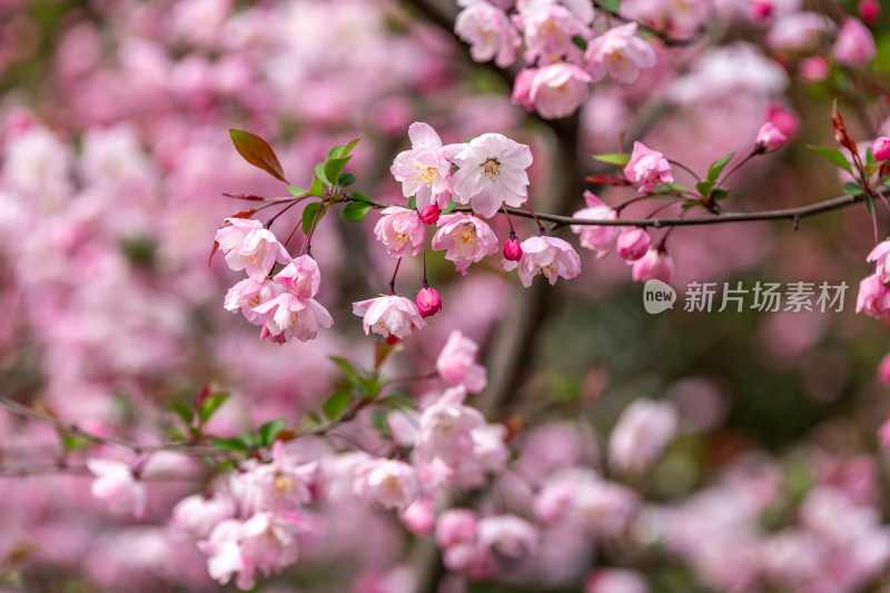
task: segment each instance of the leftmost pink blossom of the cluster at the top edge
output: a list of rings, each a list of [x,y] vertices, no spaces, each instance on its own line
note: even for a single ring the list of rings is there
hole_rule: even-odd
[[[477,62],[494,58],[501,68],[513,63],[522,45],[520,33],[506,12],[484,0],[461,0],[465,7],[454,21],[454,32],[469,43],[469,55]]]

